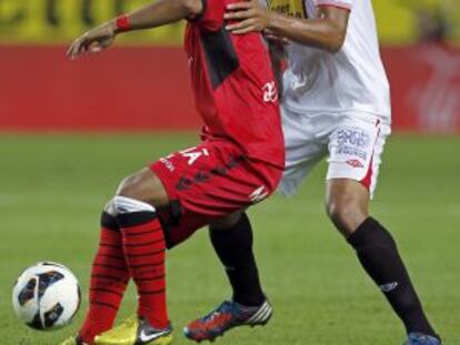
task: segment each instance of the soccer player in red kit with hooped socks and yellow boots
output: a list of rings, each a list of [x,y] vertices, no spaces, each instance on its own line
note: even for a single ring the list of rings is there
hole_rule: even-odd
[[[129,176],[106,205],[87,318],[62,344],[170,344],[164,250],[203,225],[238,222],[279,183],[284,146],[269,54],[260,33],[224,30],[229,2],[158,0],[90,30],[69,49],[74,59],[110,47],[120,32],[187,19],[186,51],[204,126],[199,145]],[[130,278],[137,317],[112,328]]]

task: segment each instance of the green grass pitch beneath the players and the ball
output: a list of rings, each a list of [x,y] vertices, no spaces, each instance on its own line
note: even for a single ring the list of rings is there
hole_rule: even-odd
[[[147,162],[196,142],[192,134],[0,136],[0,344],[54,345],[76,332],[97,247],[100,210],[118,182]],[[372,213],[394,234],[426,308],[447,345],[460,344],[460,138],[390,139]],[[237,329],[231,345],[389,345],[403,329],[323,212],[324,165],[290,199],[250,214],[269,326]],[[229,296],[201,231],[168,254],[174,344],[181,328]],[[11,287],[37,261],[71,267],[84,292],[73,324],[33,332],[13,315]],[[132,286],[120,317],[133,311]]]

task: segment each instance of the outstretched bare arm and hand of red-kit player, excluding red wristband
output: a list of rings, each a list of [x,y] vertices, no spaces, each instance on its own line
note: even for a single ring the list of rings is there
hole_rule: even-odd
[[[181,19],[191,18],[202,11],[200,0],[158,0],[126,16],[129,23],[122,30],[117,19],[108,21],[79,37],[70,45],[68,57],[76,59],[82,53],[98,53],[113,44],[118,33],[152,29]]]

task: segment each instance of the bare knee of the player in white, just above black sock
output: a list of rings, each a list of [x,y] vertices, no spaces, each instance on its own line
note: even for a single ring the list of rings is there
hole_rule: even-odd
[[[367,219],[367,214],[353,202],[331,200],[326,205],[328,216],[336,227],[346,236],[352,234]]]

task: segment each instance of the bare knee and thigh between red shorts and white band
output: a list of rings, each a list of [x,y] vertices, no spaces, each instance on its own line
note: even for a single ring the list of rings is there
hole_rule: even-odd
[[[117,190],[118,196],[131,197],[153,206],[169,203],[168,193],[161,180],[148,168],[126,177]]]

